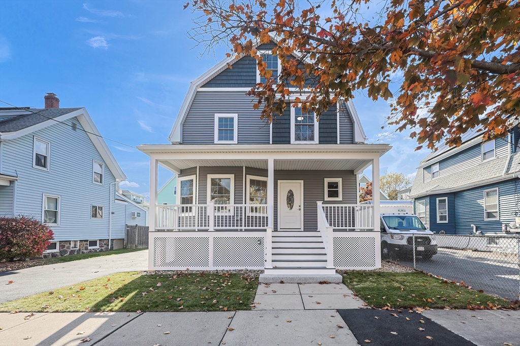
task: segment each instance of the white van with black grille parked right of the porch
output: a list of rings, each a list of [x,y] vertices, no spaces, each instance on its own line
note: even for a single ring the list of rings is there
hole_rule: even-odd
[[[437,254],[437,242],[433,232],[424,226],[419,217],[411,214],[381,214],[381,258],[415,256],[430,259]]]

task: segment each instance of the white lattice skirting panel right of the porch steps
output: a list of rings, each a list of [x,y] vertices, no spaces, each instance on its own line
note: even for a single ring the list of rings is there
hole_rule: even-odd
[[[334,267],[370,270],[381,268],[379,232],[334,232]]]

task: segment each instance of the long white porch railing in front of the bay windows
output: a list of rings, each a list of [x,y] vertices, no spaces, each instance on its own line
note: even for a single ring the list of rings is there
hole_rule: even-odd
[[[270,205],[164,204],[157,205],[155,230],[260,230],[269,227]],[[272,216],[271,216],[272,217]]]

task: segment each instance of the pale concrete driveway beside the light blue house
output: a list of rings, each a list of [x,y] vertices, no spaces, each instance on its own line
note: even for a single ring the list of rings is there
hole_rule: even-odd
[[[0,273],[0,303],[122,271],[148,270],[148,250]],[[13,281],[12,284],[7,284]]]

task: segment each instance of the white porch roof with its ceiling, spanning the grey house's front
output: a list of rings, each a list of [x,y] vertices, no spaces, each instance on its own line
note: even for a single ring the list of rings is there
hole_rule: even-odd
[[[392,147],[387,144],[335,145],[141,145],[143,153],[175,173],[196,167],[246,166],[275,170],[344,170],[356,174],[366,169]]]

